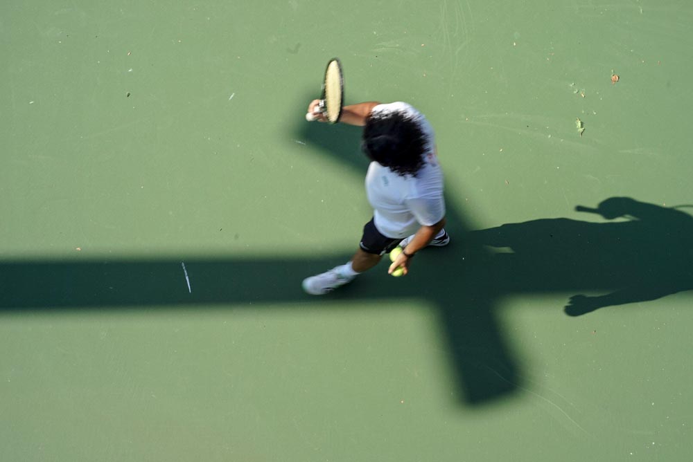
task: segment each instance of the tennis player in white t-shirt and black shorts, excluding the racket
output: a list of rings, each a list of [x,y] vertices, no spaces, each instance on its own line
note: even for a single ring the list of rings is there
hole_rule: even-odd
[[[318,112],[317,104],[318,100],[310,102],[308,112]],[[326,121],[322,115],[317,120]],[[371,160],[366,194],[374,212],[347,264],[304,279],[303,288],[312,295],[351,282],[397,246],[403,252],[388,272],[402,268],[406,275],[416,252],[450,242],[443,228],[443,173],[433,129],[423,114],[405,102],[362,102],[345,106],[340,122],[364,127],[361,148]]]

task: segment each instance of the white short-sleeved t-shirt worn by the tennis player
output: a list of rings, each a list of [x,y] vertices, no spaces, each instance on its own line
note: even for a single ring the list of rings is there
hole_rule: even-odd
[[[435,225],[445,216],[443,172],[435,152],[433,129],[428,120],[405,102],[378,104],[372,113],[403,112],[419,123],[426,136],[425,163],[416,176],[401,176],[371,162],[366,174],[366,194],[374,223],[386,237],[400,239],[414,234],[421,225]]]

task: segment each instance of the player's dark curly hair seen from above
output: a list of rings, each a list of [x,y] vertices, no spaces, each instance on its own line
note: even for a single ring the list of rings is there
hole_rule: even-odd
[[[414,118],[401,112],[369,115],[361,149],[384,167],[401,176],[416,176],[423,166],[426,136]]]

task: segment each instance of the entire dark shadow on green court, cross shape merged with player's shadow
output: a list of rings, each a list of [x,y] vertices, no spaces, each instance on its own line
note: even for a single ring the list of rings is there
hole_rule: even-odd
[[[351,128],[333,127],[328,133],[325,127],[311,124],[299,136],[365,171],[367,161],[358,155],[359,132]],[[581,315],[693,288],[690,215],[631,198],[609,198],[594,209],[577,210],[620,220],[538,219],[472,230],[459,210],[452,208],[447,228],[453,243],[421,252],[412,275],[396,279],[385,275],[383,268],[319,299],[302,292],[301,279],[343,263],[350,255],[186,259],[192,293],[184,283],[181,262],[173,259],[2,261],[0,315],[37,309],[193,304],[243,309],[286,303],[288,309],[310,309],[331,299],[354,304],[426,299],[435,306],[446,339],[457,377],[453,391],[462,403],[480,405],[512,394],[522,385],[497,320],[501,298],[608,292],[571,297],[566,313]]]

